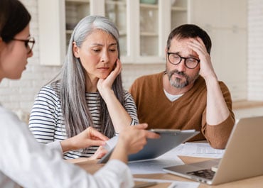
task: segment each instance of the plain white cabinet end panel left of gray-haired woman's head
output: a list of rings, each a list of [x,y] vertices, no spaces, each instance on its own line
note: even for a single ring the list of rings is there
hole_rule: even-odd
[[[39,58],[41,65],[61,65],[65,57],[65,1],[39,0]]]

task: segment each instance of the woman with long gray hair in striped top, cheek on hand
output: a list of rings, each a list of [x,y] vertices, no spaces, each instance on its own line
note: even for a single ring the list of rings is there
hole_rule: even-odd
[[[139,123],[134,100],[122,87],[119,57],[114,23],[103,16],[82,18],[60,74],[41,89],[33,105],[29,128],[38,142],[50,148],[60,142],[65,159],[100,158],[105,151],[87,148],[82,131],[91,126],[112,138]]]

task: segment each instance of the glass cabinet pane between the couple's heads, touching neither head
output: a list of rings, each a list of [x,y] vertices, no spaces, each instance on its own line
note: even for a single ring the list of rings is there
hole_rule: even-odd
[[[140,56],[159,55],[158,0],[140,0],[139,4]]]

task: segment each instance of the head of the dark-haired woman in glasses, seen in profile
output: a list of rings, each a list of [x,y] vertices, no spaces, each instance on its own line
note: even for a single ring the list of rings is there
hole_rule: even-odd
[[[8,56],[1,56],[0,82],[4,77],[9,79],[19,79],[26,68],[28,57],[33,55],[32,48],[35,43],[34,38],[29,34],[29,21],[31,15],[22,6],[20,1],[1,1],[0,9],[0,33],[1,33],[1,54],[11,53]],[[21,33],[21,35],[18,35]],[[16,58],[18,52],[16,48],[23,46],[20,50],[21,59]],[[14,48],[14,50],[13,50]],[[5,61],[5,62],[3,62]]]

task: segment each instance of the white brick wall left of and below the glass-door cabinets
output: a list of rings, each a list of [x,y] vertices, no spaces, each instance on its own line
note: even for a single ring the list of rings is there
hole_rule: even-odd
[[[36,39],[33,48],[33,57],[28,59],[26,71],[20,80],[3,79],[0,84],[0,101],[3,106],[15,111],[21,118],[28,118],[33,101],[38,90],[60,71],[60,67],[48,67],[40,65],[38,45],[38,0],[21,0],[31,13],[31,35]],[[52,45],[52,41],[50,41]],[[48,46],[47,46],[48,48]],[[122,79],[124,88],[128,89],[136,77],[143,74],[151,74],[164,70],[164,64],[160,65],[124,65]]]

